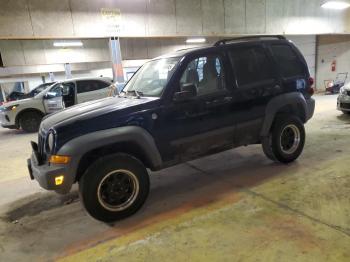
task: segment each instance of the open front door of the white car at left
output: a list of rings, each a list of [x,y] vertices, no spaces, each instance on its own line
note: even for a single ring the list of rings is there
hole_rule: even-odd
[[[44,96],[44,108],[47,114],[64,109],[62,84],[54,85]]]

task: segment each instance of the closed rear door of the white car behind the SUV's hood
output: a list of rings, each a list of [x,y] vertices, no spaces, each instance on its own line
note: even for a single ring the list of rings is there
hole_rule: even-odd
[[[108,96],[110,84],[99,80],[77,81],[78,104]]]

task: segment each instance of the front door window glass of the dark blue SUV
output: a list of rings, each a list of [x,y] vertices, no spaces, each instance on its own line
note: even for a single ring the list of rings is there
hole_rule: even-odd
[[[221,58],[217,55],[209,55],[192,60],[180,79],[181,90],[188,84],[196,86],[197,96],[223,90],[225,76]]]

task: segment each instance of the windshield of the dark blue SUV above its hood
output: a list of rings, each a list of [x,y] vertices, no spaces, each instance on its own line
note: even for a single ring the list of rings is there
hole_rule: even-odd
[[[144,64],[123,88],[123,93],[160,97],[180,57],[161,58]]]

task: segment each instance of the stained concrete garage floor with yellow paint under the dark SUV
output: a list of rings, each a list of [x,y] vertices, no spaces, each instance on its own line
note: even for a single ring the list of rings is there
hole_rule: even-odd
[[[250,146],[153,173],[115,225],[31,182],[36,135],[0,129],[0,261],[350,261],[350,116],[316,100],[297,162]]]

